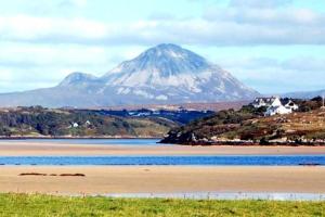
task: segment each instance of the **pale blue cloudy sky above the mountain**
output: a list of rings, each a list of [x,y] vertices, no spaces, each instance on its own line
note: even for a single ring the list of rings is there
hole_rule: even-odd
[[[325,89],[324,0],[0,0],[0,92],[101,76],[159,43],[261,93]]]

